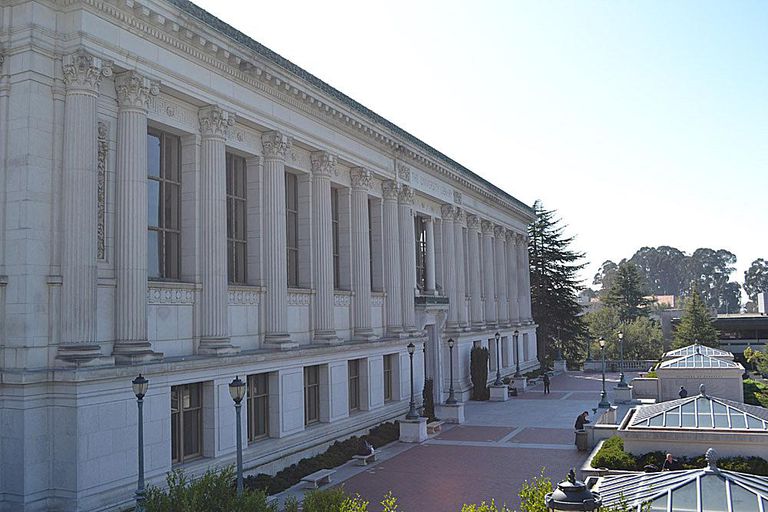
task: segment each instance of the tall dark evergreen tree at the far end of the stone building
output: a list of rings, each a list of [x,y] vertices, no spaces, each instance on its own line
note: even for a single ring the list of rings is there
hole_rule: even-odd
[[[555,210],[545,210],[540,201],[533,205],[536,220],[528,228],[528,255],[531,271],[531,307],[539,325],[539,360],[551,361],[562,350],[567,360],[579,360],[585,326],[577,299],[582,290],[577,277],[584,268],[584,254],[570,248],[573,237],[563,234],[565,226]]]

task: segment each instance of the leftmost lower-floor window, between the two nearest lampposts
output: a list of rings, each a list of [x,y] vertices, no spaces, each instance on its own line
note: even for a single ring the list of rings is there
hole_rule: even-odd
[[[203,386],[171,386],[171,461],[180,464],[203,454]]]

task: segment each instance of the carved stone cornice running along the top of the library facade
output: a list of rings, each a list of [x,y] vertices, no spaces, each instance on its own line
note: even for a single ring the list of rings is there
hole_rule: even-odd
[[[528,205],[195,4],[157,1],[179,9],[177,19],[134,0],[60,0],[59,5],[86,5],[106,13],[134,31],[533,220]]]

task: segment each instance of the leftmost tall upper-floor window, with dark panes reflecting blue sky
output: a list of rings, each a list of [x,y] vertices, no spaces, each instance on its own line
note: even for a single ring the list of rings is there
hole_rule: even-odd
[[[150,279],[181,276],[181,144],[147,132],[147,268]]]

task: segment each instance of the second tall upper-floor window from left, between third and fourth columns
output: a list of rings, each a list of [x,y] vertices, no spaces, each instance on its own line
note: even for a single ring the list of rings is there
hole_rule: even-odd
[[[227,277],[232,284],[247,282],[245,176],[245,158],[227,153]]]

